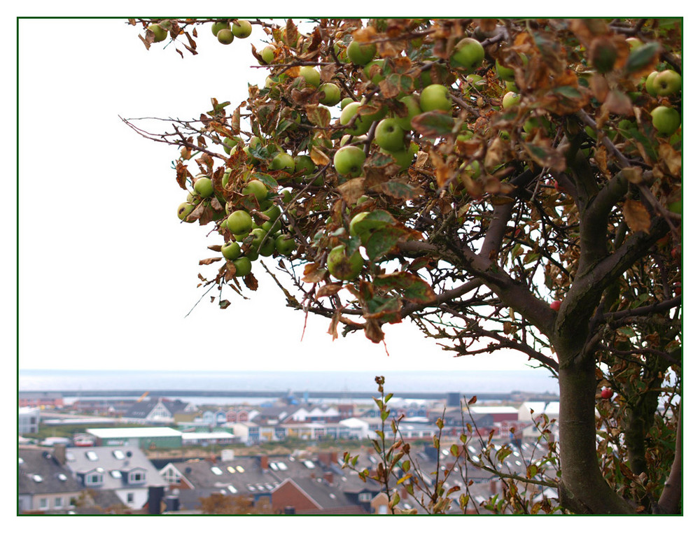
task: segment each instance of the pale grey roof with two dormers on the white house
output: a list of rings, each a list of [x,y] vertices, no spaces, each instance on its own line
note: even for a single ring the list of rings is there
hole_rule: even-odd
[[[79,479],[95,471],[103,474],[104,483],[93,488],[114,490],[167,485],[144,452],[134,446],[66,448],[66,467]],[[129,483],[129,474],[134,471],[143,472],[145,480]]]

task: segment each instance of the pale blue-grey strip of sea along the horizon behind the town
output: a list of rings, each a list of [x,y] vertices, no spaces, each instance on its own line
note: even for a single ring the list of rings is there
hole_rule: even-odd
[[[458,392],[471,397],[479,393],[511,393],[514,391],[538,394],[559,392],[556,380],[545,369],[475,370],[475,371],[386,371],[384,391],[401,392],[409,397],[416,393]],[[89,391],[143,391],[180,390],[206,391],[270,391],[331,392],[335,399],[343,392],[367,392],[377,395],[376,374],[371,371],[160,371],[160,370],[60,370],[20,369],[20,391],[76,391],[76,397],[64,397],[69,403],[78,397],[87,399]],[[81,391],[88,394],[83,395]],[[118,397],[118,396],[115,396]],[[124,397],[128,398],[128,397]],[[179,396],[183,401],[202,403],[202,397]],[[196,401],[195,401],[196,399]],[[247,401],[262,404],[270,397],[216,397],[207,396],[207,404],[232,404]],[[329,398],[332,399],[332,398]]]

